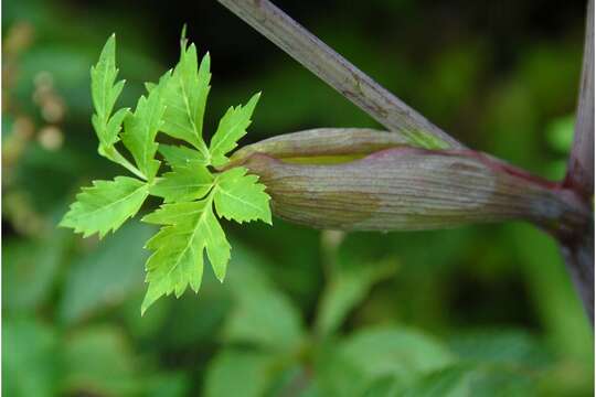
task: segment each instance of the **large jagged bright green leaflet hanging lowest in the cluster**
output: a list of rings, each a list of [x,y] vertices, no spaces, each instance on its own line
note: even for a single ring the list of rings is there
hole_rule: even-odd
[[[147,243],[155,253],[146,266],[149,289],[141,312],[163,294],[174,292],[180,297],[189,285],[198,292],[204,249],[215,275],[223,280],[231,247],[213,215],[211,195],[202,201],[166,204],[143,221],[166,226]]]

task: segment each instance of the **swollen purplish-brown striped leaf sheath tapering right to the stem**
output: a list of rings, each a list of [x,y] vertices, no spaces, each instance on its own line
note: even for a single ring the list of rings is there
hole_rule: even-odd
[[[324,138],[310,136],[305,144],[316,147]],[[281,136],[274,144],[244,148],[235,163],[258,175],[274,213],[295,223],[343,230],[416,230],[511,219],[568,230],[584,223],[585,214],[556,194],[553,183],[480,152],[395,146],[356,160],[318,163],[317,155],[305,157],[296,135],[288,139],[291,143],[284,143]],[[333,152],[326,146],[321,143],[326,152]],[[307,161],[294,162],[291,147]]]

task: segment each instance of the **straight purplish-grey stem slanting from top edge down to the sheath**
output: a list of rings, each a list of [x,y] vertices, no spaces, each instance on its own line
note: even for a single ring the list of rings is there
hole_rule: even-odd
[[[219,1],[389,130],[413,141],[423,130],[449,148],[465,148],[268,0]]]

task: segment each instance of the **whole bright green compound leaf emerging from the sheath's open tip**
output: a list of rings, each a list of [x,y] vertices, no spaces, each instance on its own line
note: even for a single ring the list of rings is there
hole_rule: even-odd
[[[209,54],[199,65],[196,47],[187,46],[183,39],[180,62],[173,72],[167,72],[158,84],[146,83],[147,95],[139,98],[134,112],[123,108],[111,115],[124,87],[124,81],[115,84],[115,50],[113,35],[92,67],[92,124],[99,139],[99,153],[139,179],[116,176],[114,181],[95,181],[76,196],[60,225],[85,237],[95,233],[103,237],[132,217],[149,194],[163,198],[160,208],[142,218],[161,226],[146,245],[153,254],[146,265],[148,290],[141,307],[145,312],[161,296],[180,297],[189,286],[199,291],[204,253],[215,276],[223,281],[231,247],[214,205],[220,217],[240,223],[272,223],[269,196],[257,176],[247,174],[244,168],[213,174],[210,171],[210,165],[228,162],[226,154],[246,135],[259,94],[246,106],[227,110],[207,149],[202,132],[211,79]],[[156,137],[160,131],[192,148],[158,144]],[[136,167],[116,149],[119,140]],[[171,168],[160,176],[158,150]]]

